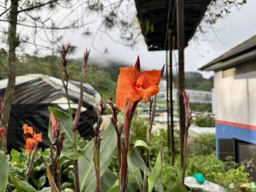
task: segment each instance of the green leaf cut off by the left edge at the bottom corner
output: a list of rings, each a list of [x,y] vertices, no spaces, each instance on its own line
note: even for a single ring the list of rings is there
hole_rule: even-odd
[[[0,150],[0,192],[4,192],[8,183],[9,177],[9,165],[7,162],[7,157]]]

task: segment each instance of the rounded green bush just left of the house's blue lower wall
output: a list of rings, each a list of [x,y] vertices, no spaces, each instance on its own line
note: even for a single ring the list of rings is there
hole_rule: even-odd
[[[208,133],[195,137],[189,144],[189,154],[212,154],[215,151],[215,135]]]

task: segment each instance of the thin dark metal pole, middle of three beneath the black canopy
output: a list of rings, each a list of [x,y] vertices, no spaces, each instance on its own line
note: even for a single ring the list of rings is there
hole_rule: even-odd
[[[172,166],[174,166],[175,163],[175,142],[174,142],[174,125],[173,125],[173,99],[172,99],[172,90],[173,90],[173,73],[172,73],[172,42],[173,42],[173,34],[172,30],[168,31],[169,36],[169,72],[170,72],[170,78],[169,78],[169,89],[170,89],[170,146],[171,146],[171,163]]]

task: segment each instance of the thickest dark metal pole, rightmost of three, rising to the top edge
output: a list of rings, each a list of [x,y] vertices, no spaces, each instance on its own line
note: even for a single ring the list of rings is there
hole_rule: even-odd
[[[178,51],[178,108],[179,108],[179,130],[180,130],[180,161],[184,168],[184,131],[185,131],[185,109],[183,104],[182,90],[184,84],[184,3],[177,0],[177,51]],[[183,181],[182,181],[183,182]]]

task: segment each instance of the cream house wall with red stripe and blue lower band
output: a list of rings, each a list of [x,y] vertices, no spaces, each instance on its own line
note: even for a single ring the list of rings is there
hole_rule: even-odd
[[[220,138],[256,144],[256,71],[244,70],[252,65],[214,74],[217,151]]]

